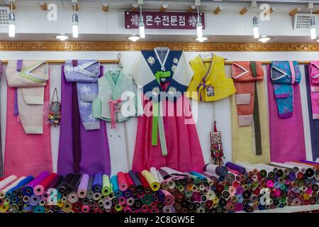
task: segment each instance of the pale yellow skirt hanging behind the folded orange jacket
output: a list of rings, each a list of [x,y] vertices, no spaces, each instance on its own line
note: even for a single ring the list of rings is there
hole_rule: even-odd
[[[262,155],[256,155],[254,146],[254,127],[238,126],[235,95],[231,97],[233,128],[233,162],[266,163],[270,162],[269,122],[267,118],[267,99],[264,81],[257,82],[259,103],[259,122],[262,136]]]

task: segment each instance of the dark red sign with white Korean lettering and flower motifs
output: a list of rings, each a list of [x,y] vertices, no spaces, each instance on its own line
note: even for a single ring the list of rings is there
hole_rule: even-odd
[[[145,28],[196,29],[197,13],[142,12]],[[125,28],[138,28],[139,12],[125,11]],[[205,28],[204,13],[199,13]]]

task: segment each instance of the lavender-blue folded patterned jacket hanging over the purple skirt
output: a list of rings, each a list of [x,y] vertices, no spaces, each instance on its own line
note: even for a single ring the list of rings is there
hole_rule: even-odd
[[[79,113],[85,130],[96,130],[100,127],[99,119],[92,114],[92,101],[98,94],[100,63],[96,60],[69,60],[65,62],[67,82],[77,83]]]

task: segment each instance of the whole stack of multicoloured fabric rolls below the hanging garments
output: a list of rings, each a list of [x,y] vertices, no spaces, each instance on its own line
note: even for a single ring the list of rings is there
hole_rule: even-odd
[[[0,213],[220,213],[319,204],[319,163],[306,160],[0,180]]]

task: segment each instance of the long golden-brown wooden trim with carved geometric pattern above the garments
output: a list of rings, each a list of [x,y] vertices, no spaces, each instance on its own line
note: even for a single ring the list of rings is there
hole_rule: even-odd
[[[318,51],[319,43],[163,43],[1,41],[0,51],[138,51],[165,46],[184,51]]]

